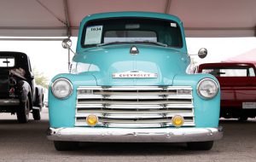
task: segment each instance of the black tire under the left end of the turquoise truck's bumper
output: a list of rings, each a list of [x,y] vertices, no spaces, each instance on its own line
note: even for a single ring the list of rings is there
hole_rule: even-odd
[[[54,141],[54,144],[57,151],[73,151],[79,148],[79,142]]]

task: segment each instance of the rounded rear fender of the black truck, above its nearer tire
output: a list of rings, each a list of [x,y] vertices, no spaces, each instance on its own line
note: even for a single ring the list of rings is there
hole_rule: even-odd
[[[17,84],[18,85],[18,93],[19,93],[19,99],[20,103],[24,103],[28,97],[28,95],[32,95],[32,90],[30,85],[24,81],[20,80],[20,82]],[[32,100],[30,99],[31,105],[32,105]]]

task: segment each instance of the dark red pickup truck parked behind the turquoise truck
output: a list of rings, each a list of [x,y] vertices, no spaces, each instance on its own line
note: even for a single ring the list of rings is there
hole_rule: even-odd
[[[247,120],[256,116],[256,77],[252,63],[206,63],[197,72],[210,73],[220,84],[220,117]]]

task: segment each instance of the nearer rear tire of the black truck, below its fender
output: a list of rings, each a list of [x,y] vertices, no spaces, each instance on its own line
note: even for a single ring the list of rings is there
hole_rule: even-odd
[[[29,98],[26,98],[24,103],[20,103],[20,107],[17,110],[17,119],[19,123],[27,123],[29,119],[29,107],[30,101]]]

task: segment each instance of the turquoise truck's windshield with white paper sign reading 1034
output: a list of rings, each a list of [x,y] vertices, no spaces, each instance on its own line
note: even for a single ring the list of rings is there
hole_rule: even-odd
[[[172,20],[112,18],[91,20],[84,26],[83,47],[113,43],[150,43],[182,48],[180,27]]]

